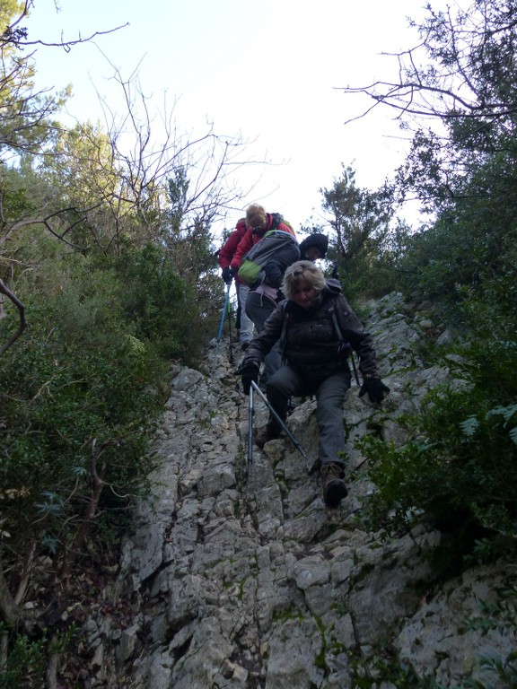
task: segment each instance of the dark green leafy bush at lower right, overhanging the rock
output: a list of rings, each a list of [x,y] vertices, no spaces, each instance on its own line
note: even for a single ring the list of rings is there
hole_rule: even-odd
[[[364,440],[378,487],[366,512],[390,533],[431,519],[453,536],[451,553],[486,559],[517,552],[517,345],[476,340],[458,353],[455,382],[399,419],[407,444]]]

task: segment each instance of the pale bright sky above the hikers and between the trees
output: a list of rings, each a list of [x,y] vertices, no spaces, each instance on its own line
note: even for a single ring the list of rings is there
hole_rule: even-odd
[[[216,133],[249,142],[249,164],[232,184],[246,194],[222,225],[232,227],[251,203],[279,212],[295,229],[324,224],[320,188],[331,188],[342,165],[374,190],[404,160],[407,139],[390,109],[345,121],[371,106],[340,87],[396,77],[382,53],[409,48],[407,17],[423,16],[418,0],[35,0],[30,39],[52,43],[98,35],[62,48],[39,48],[39,87],[73,86],[70,116],[103,118],[99,95],[122,107],[115,68],[137,74],[156,112],[174,105],[180,131]],[[57,11],[56,4],[59,10]],[[434,6],[435,6],[434,2]],[[416,222],[417,209],[403,216]],[[219,229],[222,229],[219,228]]]

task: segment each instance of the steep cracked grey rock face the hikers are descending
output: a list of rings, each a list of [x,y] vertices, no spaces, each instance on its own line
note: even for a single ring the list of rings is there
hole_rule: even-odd
[[[283,436],[253,449],[248,475],[248,398],[227,343],[216,362],[214,349],[207,354],[211,379],[174,368],[153,446],[153,499],[136,509],[116,590],[107,594],[126,602],[131,624],[91,619],[86,630],[97,681],[347,689],[357,676],[373,682],[379,660],[399,655],[419,675],[458,685],[472,673],[483,677],[479,655],[506,658],[512,650],[500,632],[462,630],[478,599],[504,580],[503,565],[438,585],[426,557],[440,543],[437,531],[420,527],[382,542],[357,527],[360,499],[373,486],[361,478],[355,438],[374,424],[386,440],[404,442],[397,417],[448,375],[425,369],[416,355],[424,328],[445,336],[432,314],[409,309],[398,294],[369,307],[367,327],[391,392],[381,409],[359,399],[357,387],[347,395],[346,466],[359,477],[337,510],[325,508],[318,475],[308,475],[317,456],[313,400],[288,422],[310,463]],[[254,423],[266,417],[256,398]],[[376,686],[394,685],[380,677]]]

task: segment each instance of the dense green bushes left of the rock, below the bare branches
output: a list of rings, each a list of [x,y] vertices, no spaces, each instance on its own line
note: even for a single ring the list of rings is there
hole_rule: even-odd
[[[0,359],[2,554],[17,563],[14,590],[19,556],[34,546],[55,571],[66,566],[94,475],[102,482],[96,528],[113,528],[146,490],[170,362],[197,365],[219,312],[158,245],[84,256],[31,230],[10,249],[30,323]],[[1,342],[14,320],[0,321]]]

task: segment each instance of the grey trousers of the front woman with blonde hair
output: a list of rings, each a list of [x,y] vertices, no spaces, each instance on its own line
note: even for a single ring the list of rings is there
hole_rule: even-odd
[[[345,449],[343,404],[350,388],[350,371],[346,366],[321,379],[308,379],[289,365],[276,371],[267,381],[267,399],[280,418],[287,417],[289,397],[316,395],[316,421],[320,432],[320,461],[343,465],[337,453]],[[278,432],[280,426],[271,414],[267,426]]]

